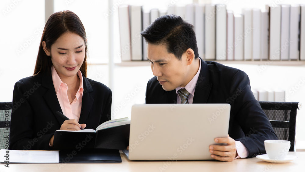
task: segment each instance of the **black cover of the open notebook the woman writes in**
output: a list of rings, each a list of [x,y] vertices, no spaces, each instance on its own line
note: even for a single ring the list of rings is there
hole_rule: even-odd
[[[53,150],[106,148],[125,150],[129,145],[130,124],[94,132],[56,131]]]

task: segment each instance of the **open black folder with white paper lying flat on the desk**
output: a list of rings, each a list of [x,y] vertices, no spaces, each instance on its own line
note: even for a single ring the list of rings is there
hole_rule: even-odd
[[[81,149],[60,151],[0,150],[0,162],[6,163],[121,163],[115,149]]]

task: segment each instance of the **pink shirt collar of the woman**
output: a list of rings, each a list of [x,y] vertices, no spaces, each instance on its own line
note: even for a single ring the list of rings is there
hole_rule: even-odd
[[[58,90],[60,88],[60,86],[64,86],[67,88],[67,84],[64,83],[60,78],[59,78],[59,75],[57,73],[57,71],[55,70],[54,66],[51,67],[51,73],[52,73],[52,80],[53,80],[53,85],[54,85],[54,88],[55,88],[55,93],[57,94],[58,93]],[[81,74],[81,71],[78,70],[77,72],[77,75],[80,79],[80,84],[79,84],[79,88],[78,88],[78,91],[77,91],[77,94],[80,92],[81,93],[81,96],[83,94],[83,91],[84,91],[84,82],[83,82],[83,75]],[[77,96],[78,97],[78,96]]]

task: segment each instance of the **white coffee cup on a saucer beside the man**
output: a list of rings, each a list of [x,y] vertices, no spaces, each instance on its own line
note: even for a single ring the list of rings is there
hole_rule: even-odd
[[[287,140],[265,140],[264,144],[268,157],[274,160],[284,160],[290,149]]]

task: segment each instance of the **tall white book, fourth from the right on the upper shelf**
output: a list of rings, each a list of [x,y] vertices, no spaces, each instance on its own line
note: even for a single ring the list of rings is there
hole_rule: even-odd
[[[269,59],[281,59],[281,6],[270,7]]]

